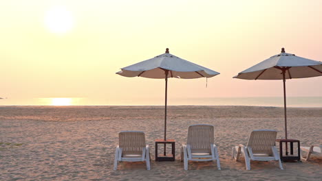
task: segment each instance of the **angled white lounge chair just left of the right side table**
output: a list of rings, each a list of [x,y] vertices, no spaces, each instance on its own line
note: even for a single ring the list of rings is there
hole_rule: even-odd
[[[276,136],[277,131],[275,130],[253,130],[246,146],[239,144],[239,146],[233,147],[232,156],[237,161],[242,154],[245,158],[247,170],[250,170],[250,160],[276,160],[279,161],[279,168],[283,169],[279,153],[275,147]]]

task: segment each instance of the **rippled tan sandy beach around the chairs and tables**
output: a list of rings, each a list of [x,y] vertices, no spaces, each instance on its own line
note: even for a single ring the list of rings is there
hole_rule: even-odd
[[[322,108],[288,108],[289,138],[321,144]],[[222,170],[215,162],[191,162],[184,171],[180,145],[196,123],[215,127]],[[322,158],[309,162],[235,162],[231,147],[246,144],[251,130],[274,129],[283,138],[283,108],[169,106],[167,137],[175,162],[155,162],[154,140],[164,134],[162,106],[1,106],[0,180],[321,180]],[[113,170],[118,132],[141,130],[151,147],[151,170],[122,162]]]

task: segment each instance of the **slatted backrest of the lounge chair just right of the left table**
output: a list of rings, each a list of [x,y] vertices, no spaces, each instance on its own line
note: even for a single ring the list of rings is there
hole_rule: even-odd
[[[188,128],[188,145],[191,149],[205,149],[211,153],[211,144],[213,144],[213,125],[191,125]]]

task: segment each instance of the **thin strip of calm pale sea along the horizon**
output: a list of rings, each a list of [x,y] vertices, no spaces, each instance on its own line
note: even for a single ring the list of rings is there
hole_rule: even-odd
[[[112,99],[112,98],[67,98],[69,101],[62,105],[72,106],[162,106],[164,97],[158,98],[131,98],[131,99]],[[322,97],[287,97],[288,107],[308,107],[321,108]],[[59,103],[59,102],[58,102]],[[53,98],[32,98],[32,99],[0,99],[0,106],[53,106],[57,102]],[[203,98],[168,98],[169,106],[276,106],[283,107],[283,97],[203,97]]]

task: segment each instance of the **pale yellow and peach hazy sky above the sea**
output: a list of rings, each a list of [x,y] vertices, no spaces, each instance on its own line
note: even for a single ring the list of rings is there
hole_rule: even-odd
[[[282,97],[281,80],[232,77],[281,47],[322,61],[321,10],[320,0],[1,1],[0,97],[7,99],[0,105],[50,105],[55,97],[91,99],[88,105],[163,103],[164,80],[116,72],[166,48],[221,73],[170,79],[169,99]],[[322,76],[286,86],[290,97],[322,97]]]

